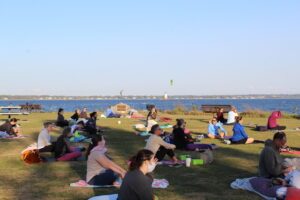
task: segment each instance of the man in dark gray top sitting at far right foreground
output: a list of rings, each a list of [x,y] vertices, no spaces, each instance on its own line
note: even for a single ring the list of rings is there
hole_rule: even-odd
[[[276,178],[283,174],[280,148],[287,142],[286,134],[278,132],[273,140],[267,140],[259,158],[259,176],[265,178]]]

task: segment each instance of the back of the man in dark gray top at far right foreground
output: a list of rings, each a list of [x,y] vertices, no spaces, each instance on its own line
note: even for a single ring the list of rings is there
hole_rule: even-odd
[[[279,177],[282,174],[282,162],[279,149],[274,146],[272,140],[267,140],[259,157],[259,176]]]

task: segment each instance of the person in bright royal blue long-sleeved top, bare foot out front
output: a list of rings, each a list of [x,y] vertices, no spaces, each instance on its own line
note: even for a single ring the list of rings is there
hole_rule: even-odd
[[[235,118],[236,123],[233,127],[233,136],[230,138],[231,144],[251,144],[254,142],[253,138],[249,138],[244,127],[243,117],[238,116]]]

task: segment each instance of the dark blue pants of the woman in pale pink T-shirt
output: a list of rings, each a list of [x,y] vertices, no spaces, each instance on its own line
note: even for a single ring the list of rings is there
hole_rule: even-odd
[[[105,170],[104,172],[94,176],[89,182],[89,185],[113,185],[119,178],[119,175],[112,170]]]

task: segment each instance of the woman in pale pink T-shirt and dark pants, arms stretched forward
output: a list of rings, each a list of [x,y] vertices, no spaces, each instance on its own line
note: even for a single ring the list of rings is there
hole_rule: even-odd
[[[105,155],[106,151],[102,135],[94,135],[87,151],[86,182],[88,184],[114,185],[119,176],[124,178],[126,171],[109,160]]]

